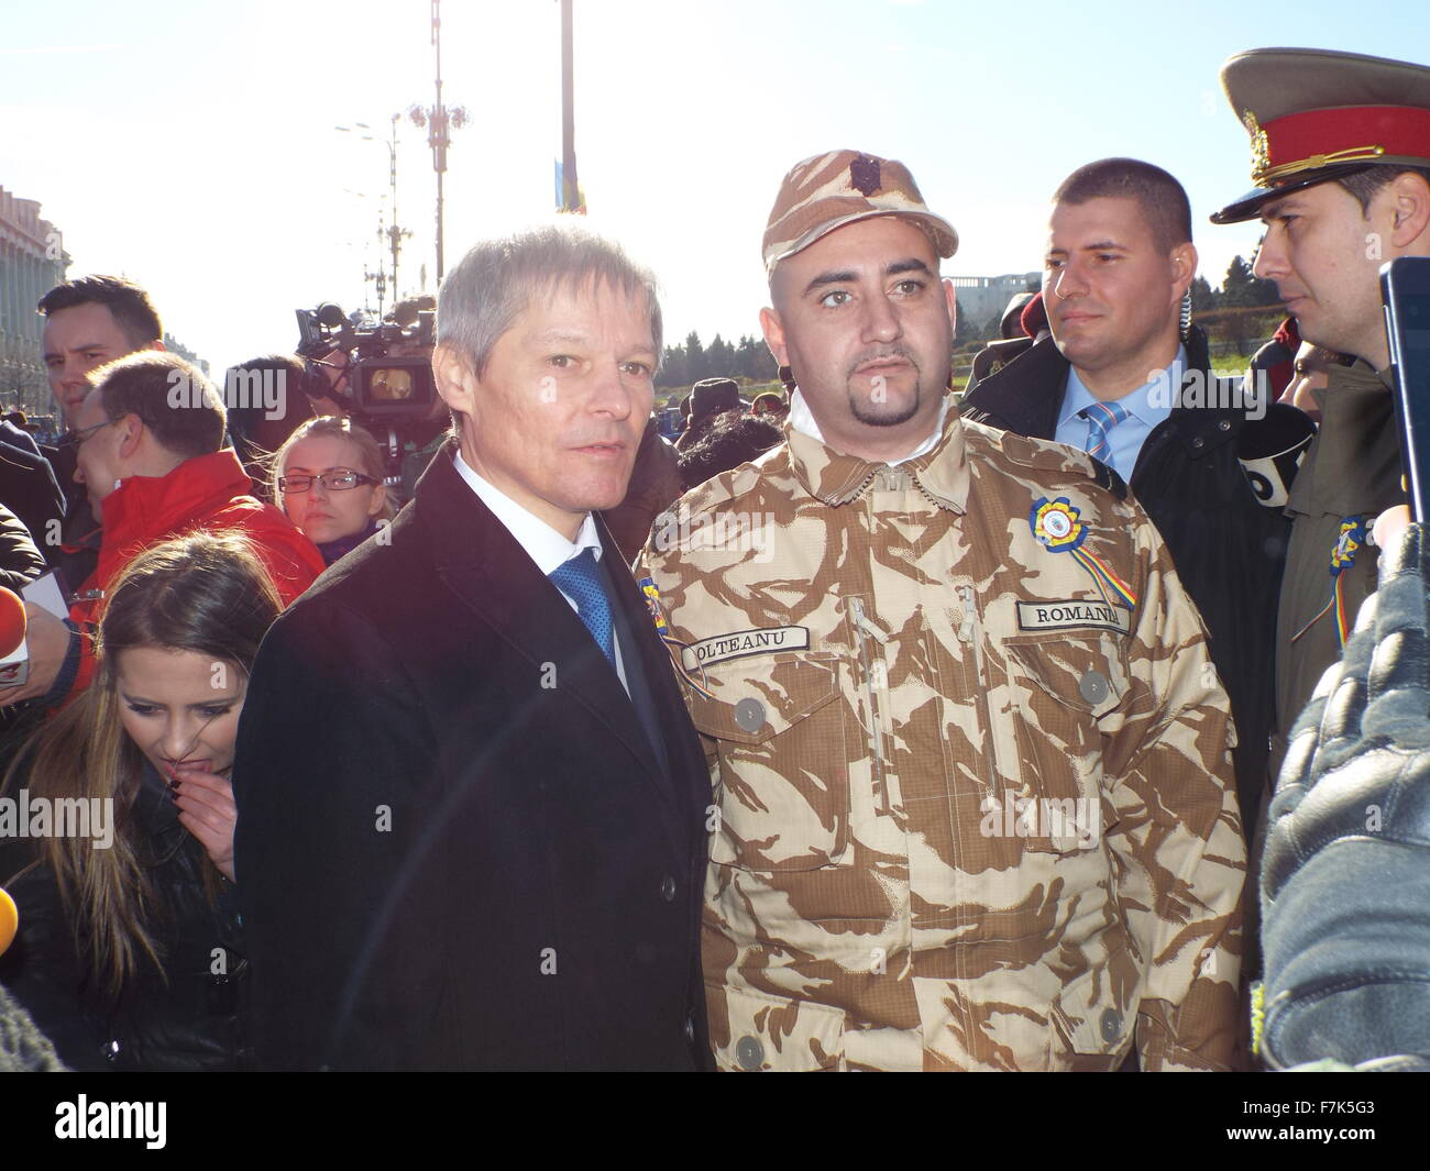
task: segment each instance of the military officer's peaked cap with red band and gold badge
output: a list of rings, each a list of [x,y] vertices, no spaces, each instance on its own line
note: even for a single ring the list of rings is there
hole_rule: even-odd
[[[1328,49],[1251,49],[1221,67],[1251,134],[1256,190],[1213,223],[1256,219],[1290,192],[1374,166],[1430,167],[1430,69]]]

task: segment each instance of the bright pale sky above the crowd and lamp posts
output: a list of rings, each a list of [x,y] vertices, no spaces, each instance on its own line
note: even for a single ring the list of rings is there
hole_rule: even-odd
[[[759,237],[799,159],[854,147],[909,164],[960,232],[950,276],[1041,266],[1047,200],[1130,154],[1191,196],[1203,273],[1250,255],[1207,214],[1250,189],[1218,67],[1256,46],[1430,64],[1410,0],[575,0],[576,153],[588,223],[661,277],[672,340],[756,333]],[[376,307],[388,147],[335,126],[433,103],[429,0],[64,0],[9,6],[0,184],[41,202],[70,275],[122,272],[216,370],[297,342],[293,309]],[[446,0],[453,136],[446,262],[552,217],[561,153],[555,0]],[[375,132],[375,133],[378,133]],[[426,132],[403,119],[402,292],[435,277]],[[389,293],[390,306],[390,293]]]

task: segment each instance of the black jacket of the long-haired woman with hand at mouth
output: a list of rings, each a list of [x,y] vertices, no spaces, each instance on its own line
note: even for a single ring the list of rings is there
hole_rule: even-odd
[[[119,999],[103,997],[82,972],[49,868],[36,865],[10,882],[14,866],[0,865],[0,882],[20,909],[19,935],[0,958],[0,984],[74,1069],[250,1068],[249,964],[233,886],[217,879],[222,889],[210,902],[203,846],[179,824],[167,786],[147,765],[133,816],[144,831],[162,904],[154,935],[163,945],[163,975],[140,959]]]

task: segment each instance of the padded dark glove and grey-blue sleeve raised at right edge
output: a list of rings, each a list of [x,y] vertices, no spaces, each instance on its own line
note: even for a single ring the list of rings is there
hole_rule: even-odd
[[[1261,866],[1273,1068],[1430,1057],[1426,582],[1411,525],[1291,733]]]

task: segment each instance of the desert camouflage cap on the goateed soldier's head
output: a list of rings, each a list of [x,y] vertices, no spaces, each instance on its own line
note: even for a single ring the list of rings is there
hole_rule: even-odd
[[[779,184],[765,227],[765,272],[834,229],[872,216],[907,216],[928,233],[940,256],[958,250],[958,233],[924,206],[908,167],[858,150],[831,150],[795,163]]]

